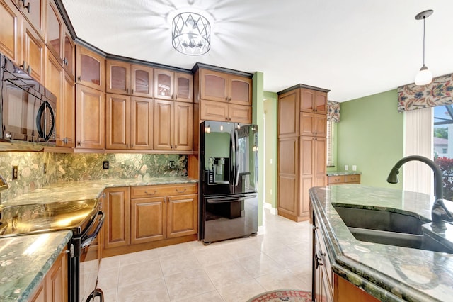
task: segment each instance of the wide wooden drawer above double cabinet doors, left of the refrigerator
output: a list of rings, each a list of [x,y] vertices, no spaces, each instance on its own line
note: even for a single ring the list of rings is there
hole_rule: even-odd
[[[176,196],[181,194],[197,194],[197,184],[168,184],[159,186],[131,186],[131,198]]]

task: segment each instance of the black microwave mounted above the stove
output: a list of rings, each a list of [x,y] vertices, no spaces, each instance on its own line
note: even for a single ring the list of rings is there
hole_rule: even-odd
[[[0,54],[0,141],[55,145],[57,98]]]

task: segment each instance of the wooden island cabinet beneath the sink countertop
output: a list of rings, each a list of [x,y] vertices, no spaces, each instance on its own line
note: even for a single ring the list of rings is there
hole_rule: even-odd
[[[377,302],[369,293],[362,291],[346,279],[333,273],[331,261],[327,254],[326,242],[317,225],[316,216],[313,221],[313,274],[312,294],[313,301],[326,302]]]

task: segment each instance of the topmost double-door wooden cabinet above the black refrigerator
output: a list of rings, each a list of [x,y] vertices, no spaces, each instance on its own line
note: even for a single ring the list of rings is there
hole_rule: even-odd
[[[201,99],[252,105],[252,79],[248,77],[201,69],[200,82]]]

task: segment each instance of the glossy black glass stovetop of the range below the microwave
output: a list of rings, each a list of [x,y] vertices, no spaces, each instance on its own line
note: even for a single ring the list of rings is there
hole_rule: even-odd
[[[99,211],[97,199],[0,206],[0,235],[14,236],[52,230],[83,231]]]

